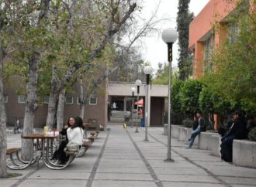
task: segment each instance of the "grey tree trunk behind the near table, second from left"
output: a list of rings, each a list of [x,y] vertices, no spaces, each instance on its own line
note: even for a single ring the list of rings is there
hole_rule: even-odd
[[[37,77],[38,65],[40,62],[40,53],[34,52],[29,59],[29,81],[26,84],[26,104],[23,126],[23,135],[33,133],[33,124],[37,104]],[[33,142],[31,140],[22,140],[22,159],[29,160],[33,151]]]

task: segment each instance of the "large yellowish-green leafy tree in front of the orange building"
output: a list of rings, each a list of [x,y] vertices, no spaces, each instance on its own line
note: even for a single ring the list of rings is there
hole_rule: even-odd
[[[227,26],[233,26],[237,32],[230,32],[227,41],[214,52],[211,60],[216,72],[202,78],[208,93],[202,93],[200,107],[207,108],[208,103],[217,114],[256,108],[256,14],[248,12],[246,1],[238,9]]]

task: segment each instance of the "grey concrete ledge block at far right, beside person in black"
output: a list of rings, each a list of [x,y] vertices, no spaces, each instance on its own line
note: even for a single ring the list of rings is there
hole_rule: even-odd
[[[233,163],[234,165],[256,168],[256,142],[234,140]]]

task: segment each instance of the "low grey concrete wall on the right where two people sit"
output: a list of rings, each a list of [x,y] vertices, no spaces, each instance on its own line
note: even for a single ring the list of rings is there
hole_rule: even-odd
[[[171,137],[179,141],[188,141],[191,128],[181,125],[171,125]],[[212,155],[220,156],[220,135],[215,132],[201,132],[195,138],[194,145],[199,149],[209,150]],[[233,142],[233,163],[249,168],[256,168],[256,142],[247,140],[234,140]]]

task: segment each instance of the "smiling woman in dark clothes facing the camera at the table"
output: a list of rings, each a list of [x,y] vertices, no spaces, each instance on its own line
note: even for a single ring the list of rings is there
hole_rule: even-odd
[[[67,161],[66,154],[64,153],[64,148],[66,148],[66,145],[68,143],[67,128],[70,128],[73,125],[74,125],[74,117],[69,117],[68,121],[67,121],[67,124],[60,131],[60,134],[63,135],[63,136],[66,136],[66,138],[65,138],[64,141],[61,141],[60,147],[57,149],[57,151],[54,152],[54,155],[51,158],[51,160],[59,160],[61,162],[66,162]]]

